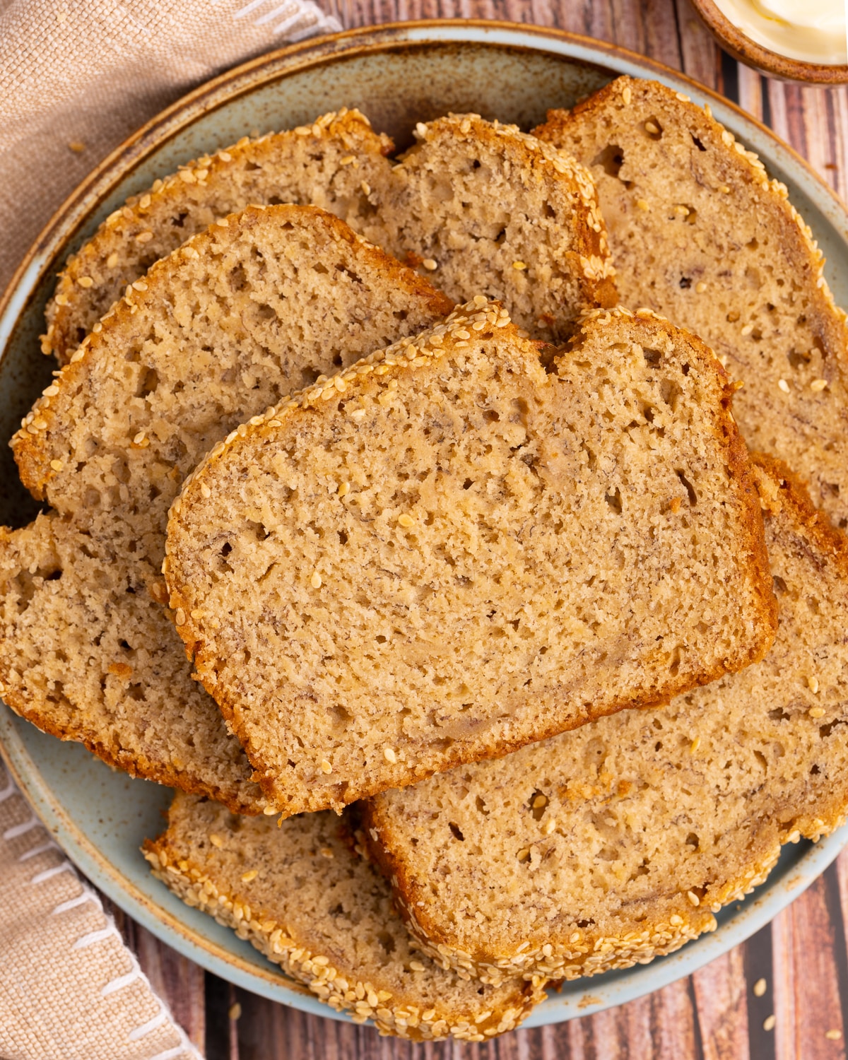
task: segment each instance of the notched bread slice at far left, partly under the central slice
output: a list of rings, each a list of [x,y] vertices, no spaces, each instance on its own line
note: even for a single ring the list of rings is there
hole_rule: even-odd
[[[241,421],[449,306],[314,207],[251,207],[135,281],[13,440],[52,511],[0,545],[10,706],[139,776],[261,810],[161,606],[169,505]]]

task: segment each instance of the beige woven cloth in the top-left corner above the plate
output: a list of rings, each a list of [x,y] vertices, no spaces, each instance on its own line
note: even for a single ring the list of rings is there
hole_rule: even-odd
[[[237,63],[339,29],[310,0],[0,0],[0,292],[147,119]]]

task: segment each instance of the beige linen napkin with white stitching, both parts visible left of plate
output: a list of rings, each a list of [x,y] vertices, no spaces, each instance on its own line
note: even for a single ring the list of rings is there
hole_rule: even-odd
[[[74,186],[158,110],[338,29],[310,0],[0,0],[0,290]],[[199,1060],[2,764],[0,1058]]]

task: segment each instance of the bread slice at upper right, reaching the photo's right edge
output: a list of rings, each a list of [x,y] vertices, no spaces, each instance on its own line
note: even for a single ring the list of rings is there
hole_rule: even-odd
[[[783,184],[709,108],[652,81],[619,77],[535,134],[591,169],[624,304],[711,346],[744,382],[734,413],[748,445],[848,526],[845,314]]]

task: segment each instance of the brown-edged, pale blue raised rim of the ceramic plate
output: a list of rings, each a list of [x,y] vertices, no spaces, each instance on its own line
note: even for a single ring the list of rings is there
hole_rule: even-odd
[[[508,37],[514,39],[507,39]],[[744,129],[743,139],[748,144],[756,145],[758,141],[766,143],[772,148],[773,161],[776,156],[775,164],[781,165],[782,161],[795,170],[795,182],[799,183],[801,190],[813,194],[817,208],[841,231],[848,244],[848,211],[838,195],[815,173],[806,159],[737,104],[662,63],[617,45],[565,30],[500,19],[417,19],[390,22],[310,38],[249,59],[186,93],[122,141],[94,166],[54,211],[15,270],[0,298],[0,346],[2,346],[0,359],[5,353],[6,339],[14,333],[40,281],[53,267],[59,254],[63,251],[67,252],[68,244],[76,236],[86,218],[137,165],[173,137],[190,128],[200,117],[241,95],[255,91],[263,85],[290,76],[296,70],[316,68],[355,55],[452,42],[489,45],[499,50],[559,54],[614,73],[617,70],[620,72],[621,67],[625,67],[630,68],[635,76],[657,76],[667,84],[672,83],[691,89],[693,94],[714,105],[719,111],[729,113],[734,119],[731,124],[738,123],[738,126]],[[546,42],[548,46],[559,47],[545,47]],[[752,137],[752,132],[755,136]],[[822,202],[823,193],[827,193],[827,205]],[[315,1014],[331,1019],[348,1019],[344,1013],[334,1012],[300,984],[284,976],[275,966],[268,964],[265,973],[264,969],[243,960],[217,943],[200,939],[192,929],[138,890],[136,885],[114,869],[105,855],[78,829],[75,829],[69,819],[63,819],[57,798],[42,780],[37,763],[30,758],[15,731],[14,726],[18,720],[11,711],[8,714],[2,712],[0,755],[6,760],[18,787],[30,798],[59,845],[119,907],[162,941],[174,946],[201,967],[229,982]],[[28,762],[32,763],[32,767]],[[638,978],[635,983],[629,983],[628,976],[622,977],[620,986],[617,982],[612,988],[608,985],[601,986],[599,982],[596,989],[605,989],[607,991],[605,999],[575,1004],[564,996],[558,999],[554,995],[540,1006],[523,1025],[542,1026],[591,1014],[643,996],[668,983],[691,974],[767,923],[806,889],[846,845],[848,845],[848,826],[844,826],[811,847],[801,856],[805,871],[800,874],[796,872],[794,880],[790,880],[782,887],[779,884],[778,887],[773,886],[772,890],[764,891],[759,897],[755,895],[749,898],[744,907],[745,912],[735,918],[732,923],[727,924],[722,932],[712,936],[702,935],[697,944],[684,947],[671,956],[659,958],[659,962],[655,961],[652,966],[654,974],[644,976],[647,983],[643,988],[640,988]],[[808,868],[811,871],[807,871]],[[776,895],[778,888],[780,894]],[[727,941],[728,937],[730,941]],[[638,966],[632,969],[631,973],[634,977],[638,976]],[[587,999],[593,996],[593,979],[578,982],[586,985],[585,996]],[[621,996],[616,996],[619,993]]]

